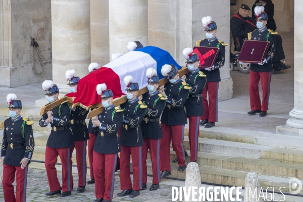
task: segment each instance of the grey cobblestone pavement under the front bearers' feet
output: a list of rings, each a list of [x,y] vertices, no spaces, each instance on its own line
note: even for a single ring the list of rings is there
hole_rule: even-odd
[[[58,179],[61,182],[62,174],[58,172]],[[50,196],[46,197],[45,192],[49,191],[49,186],[46,177],[46,171],[43,170],[28,170],[27,178],[27,194],[26,201],[93,201],[95,199],[94,184],[86,185],[84,193],[76,193],[78,176],[73,175],[74,189],[72,195],[67,197]],[[89,180],[89,175],[87,176]],[[16,186],[16,184],[14,183]],[[160,185],[160,189],[157,191],[149,191],[151,183],[147,183],[147,189],[140,191],[140,195],[135,198],[130,197],[118,197],[117,193],[120,192],[120,179],[119,173],[116,173],[115,179],[115,191],[113,201],[171,201],[172,188],[169,185]],[[16,188],[16,187],[15,187]],[[4,201],[3,188],[0,187],[0,202]]]

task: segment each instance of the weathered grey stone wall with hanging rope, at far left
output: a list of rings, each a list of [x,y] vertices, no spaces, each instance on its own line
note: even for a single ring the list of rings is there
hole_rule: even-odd
[[[15,87],[52,78],[51,0],[0,2],[0,86]],[[31,70],[30,42],[39,44],[44,72]],[[36,71],[40,64],[34,52]]]

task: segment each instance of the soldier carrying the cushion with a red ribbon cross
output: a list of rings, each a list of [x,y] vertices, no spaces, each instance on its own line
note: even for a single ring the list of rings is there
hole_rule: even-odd
[[[205,125],[206,128],[215,126],[218,122],[218,90],[220,77],[220,68],[225,63],[225,44],[217,39],[217,24],[212,21],[212,17],[207,16],[202,18],[202,24],[206,31],[206,38],[196,42],[196,46],[218,47],[219,55],[213,67],[206,68],[202,72],[207,76],[207,83],[202,94],[204,115],[200,117],[200,125]],[[209,100],[207,100],[207,95]]]

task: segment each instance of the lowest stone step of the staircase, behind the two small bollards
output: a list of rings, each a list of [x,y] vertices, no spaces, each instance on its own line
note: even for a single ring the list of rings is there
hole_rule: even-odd
[[[200,175],[202,183],[211,183],[211,184],[220,184],[227,186],[242,186],[245,185],[245,178],[248,171],[237,171],[237,170],[228,170],[222,168],[213,168],[200,166]],[[172,175],[169,178],[178,178],[185,179],[186,171],[178,171],[178,164],[171,163],[171,173]],[[150,160],[147,161],[147,174],[152,175],[153,171],[151,169]],[[272,187],[275,188],[275,191],[281,188],[282,192],[289,193],[289,178],[287,177],[275,177],[268,175],[259,175],[260,185],[263,189],[273,190]],[[165,180],[165,179],[162,179]],[[301,181],[303,183],[303,181]],[[285,188],[282,188],[285,187]],[[300,194],[303,194],[303,190],[300,191]]]

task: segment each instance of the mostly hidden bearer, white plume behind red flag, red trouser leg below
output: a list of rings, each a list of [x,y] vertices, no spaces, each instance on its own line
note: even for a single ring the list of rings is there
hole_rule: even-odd
[[[88,66],[89,73],[92,73],[93,71],[97,70],[100,67],[98,63],[90,63]],[[88,161],[89,161],[89,173],[90,173],[90,180],[87,181],[87,184],[94,184],[94,176],[93,176],[93,147],[94,143],[98,134],[98,130],[93,130],[91,119],[89,119],[88,122],[88,134],[89,139],[87,140],[87,154],[88,154]]]

